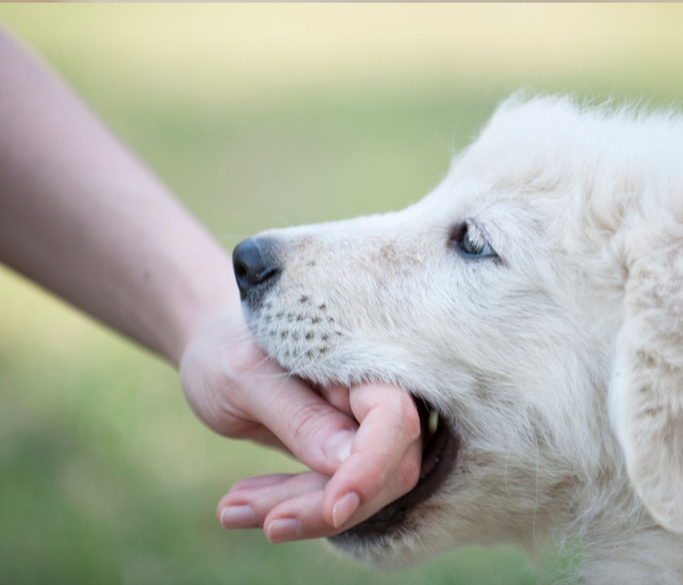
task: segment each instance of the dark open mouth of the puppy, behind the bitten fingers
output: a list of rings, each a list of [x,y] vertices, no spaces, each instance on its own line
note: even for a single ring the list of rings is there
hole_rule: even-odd
[[[407,530],[406,515],[417,504],[427,500],[443,485],[456,464],[460,439],[447,420],[420,398],[415,399],[422,427],[422,463],[417,485],[398,500],[356,526],[329,540],[341,547],[358,541],[387,537],[399,530]]]

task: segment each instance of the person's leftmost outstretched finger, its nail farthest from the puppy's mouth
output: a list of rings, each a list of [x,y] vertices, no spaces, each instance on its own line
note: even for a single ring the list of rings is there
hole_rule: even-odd
[[[329,477],[307,472],[290,476],[264,476],[260,480],[263,481],[262,485],[231,490],[221,498],[216,515],[223,528],[263,526],[266,516],[277,504],[311,491],[321,490],[329,481]]]

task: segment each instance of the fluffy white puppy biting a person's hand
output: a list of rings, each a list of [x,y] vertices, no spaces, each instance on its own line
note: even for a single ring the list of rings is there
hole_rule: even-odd
[[[683,583],[682,119],[516,96],[419,203],[235,259],[283,367],[441,416],[417,487],[335,545],[577,542],[581,582]]]

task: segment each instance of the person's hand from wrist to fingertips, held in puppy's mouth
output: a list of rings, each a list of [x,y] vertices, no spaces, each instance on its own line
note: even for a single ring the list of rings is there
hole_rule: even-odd
[[[219,503],[224,528],[262,527],[271,542],[329,536],[417,483],[420,421],[408,393],[378,385],[317,393],[255,345],[238,309],[193,337],[180,372],[208,427],[282,448],[313,470],[238,482]]]

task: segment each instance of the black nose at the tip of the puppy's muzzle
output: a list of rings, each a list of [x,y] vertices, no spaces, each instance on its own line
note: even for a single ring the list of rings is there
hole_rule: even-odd
[[[232,252],[232,266],[242,300],[260,300],[279,274],[275,246],[268,238],[249,238]]]

